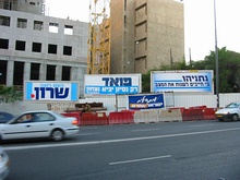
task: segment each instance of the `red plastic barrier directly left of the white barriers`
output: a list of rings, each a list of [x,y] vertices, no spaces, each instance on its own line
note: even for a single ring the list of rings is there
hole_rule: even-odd
[[[109,124],[133,123],[134,111],[110,112],[108,116]]]

